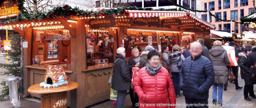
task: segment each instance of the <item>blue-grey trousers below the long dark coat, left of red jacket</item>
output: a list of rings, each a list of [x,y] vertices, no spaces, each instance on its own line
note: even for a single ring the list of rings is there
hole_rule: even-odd
[[[126,97],[126,90],[117,90],[116,108],[124,108],[125,97]]]

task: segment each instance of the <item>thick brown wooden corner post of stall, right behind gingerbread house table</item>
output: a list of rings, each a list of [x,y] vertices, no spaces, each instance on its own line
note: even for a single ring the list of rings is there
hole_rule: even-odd
[[[75,90],[71,90],[71,108],[83,108],[85,93],[85,73],[86,69],[86,32],[85,20],[78,20],[76,24],[72,25],[75,31],[74,36],[71,37],[71,74],[70,80],[79,84]],[[72,32],[72,31],[70,31]]]

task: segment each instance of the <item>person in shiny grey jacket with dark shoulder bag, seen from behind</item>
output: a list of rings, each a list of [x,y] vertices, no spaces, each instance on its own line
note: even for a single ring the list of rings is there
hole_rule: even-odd
[[[185,57],[179,51],[180,49],[179,45],[174,45],[172,49],[173,49],[173,52],[169,54],[170,69],[172,73],[175,94],[176,94],[176,97],[179,97],[180,96],[180,68],[177,65],[180,59],[184,60]]]

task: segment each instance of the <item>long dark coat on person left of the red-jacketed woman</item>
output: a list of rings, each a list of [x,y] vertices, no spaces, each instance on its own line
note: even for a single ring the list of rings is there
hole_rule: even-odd
[[[131,77],[128,66],[126,64],[126,59],[121,54],[117,54],[116,60],[115,66],[113,67],[111,88],[115,90],[129,90]]]

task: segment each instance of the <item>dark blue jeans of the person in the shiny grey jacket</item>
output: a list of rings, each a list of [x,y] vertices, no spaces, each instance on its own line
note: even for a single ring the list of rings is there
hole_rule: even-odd
[[[180,95],[180,73],[172,72],[172,82],[176,95]]]

